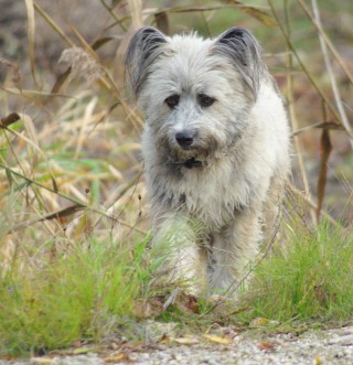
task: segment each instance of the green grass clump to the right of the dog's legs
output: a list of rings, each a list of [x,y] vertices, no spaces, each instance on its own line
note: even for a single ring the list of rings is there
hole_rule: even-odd
[[[322,223],[297,229],[255,270],[252,318],[347,320],[353,313],[353,235]]]

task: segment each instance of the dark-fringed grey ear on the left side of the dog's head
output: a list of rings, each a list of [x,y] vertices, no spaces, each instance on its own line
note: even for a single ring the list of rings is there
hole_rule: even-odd
[[[149,67],[163,52],[164,44],[164,34],[152,26],[143,26],[132,36],[126,53],[125,75],[135,97],[138,97],[149,74]]]

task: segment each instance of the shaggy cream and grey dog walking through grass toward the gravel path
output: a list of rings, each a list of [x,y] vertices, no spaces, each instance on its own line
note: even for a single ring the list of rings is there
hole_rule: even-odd
[[[126,76],[146,127],[141,149],[154,247],[193,291],[239,285],[279,215],[290,128],[263,50],[244,28],[216,39],[132,36]]]

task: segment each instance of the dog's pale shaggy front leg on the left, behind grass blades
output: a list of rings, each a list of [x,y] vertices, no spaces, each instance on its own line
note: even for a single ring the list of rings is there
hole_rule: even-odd
[[[206,279],[206,255],[196,243],[197,228],[186,215],[163,214],[154,225],[152,257],[159,264],[160,279],[200,294]]]

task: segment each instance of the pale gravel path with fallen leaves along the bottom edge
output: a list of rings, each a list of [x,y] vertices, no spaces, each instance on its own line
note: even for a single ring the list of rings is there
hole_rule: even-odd
[[[293,334],[236,334],[227,344],[205,337],[175,339],[180,343],[158,343],[143,346],[114,348],[100,354],[38,357],[28,361],[2,362],[1,365],[55,364],[55,365],[267,365],[267,364],[353,364],[353,326],[336,330],[314,330]],[[193,343],[194,342],[194,343]],[[189,343],[189,345],[185,345]]]

